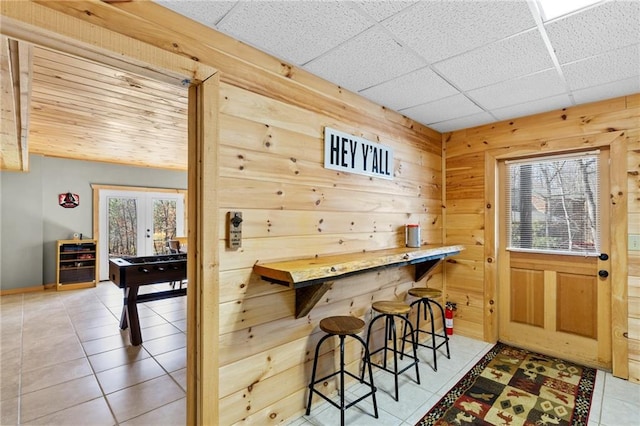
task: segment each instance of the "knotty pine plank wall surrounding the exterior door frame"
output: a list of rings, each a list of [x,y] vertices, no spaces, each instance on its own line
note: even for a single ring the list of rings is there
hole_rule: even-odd
[[[485,259],[485,233],[496,224],[485,221],[487,173],[485,153],[542,150],[547,144],[566,149],[588,146],[595,139],[625,139],[628,150],[629,233],[640,233],[640,95],[616,98],[443,134],[446,170],[445,243],[466,250],[446,263],[448,299],[457,302],[456,333],[491,340],[494,306],[487,303],[485,278],[494,270]],[[615,144],[617,142],[612,142]],[[613,145],[612,145],[613,147]],[[495,155],[495,154],[494,154]],[[613,165],[615,167],[615,165]],[[624,232],[614,239],[626,239]],[[640,252],[628,252],[629,378],[640,382]],[[614,267],[615,267],[614,260]],[[627,275],[625,270],[614,273]]]

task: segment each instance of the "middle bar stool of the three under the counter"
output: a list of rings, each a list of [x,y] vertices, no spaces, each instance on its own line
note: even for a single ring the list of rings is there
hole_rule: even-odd
[[[411,324],[411,321],[409,321],[409,317],[408,314],[409,312],[411,312],[411,307],[409,305],[407,305],[404,302],[397,302],[397,301],[379,301],[379,302],[374,302],[371,305],[371,308],[376,311],[379,312],[380,314],[378,316],[376,316],[375,318],[373,318],[371,320],[371,322],[369,323],[369,330],[367,332],[367,347],[369,347],[369,341],[371,339],[371,330],[373,328],[373,324],[381,319],[384,318],[385,319],[385,341],[384,341],[384,346],[376,349],[375,351],[371,352],[370,355],[373,356],[376,353],[380,352],[380,351],[384,351],[383,352],[383,360],[382,360],[382,364],[376,364],[374,362],[372,362],[372,365],[374,365],[375,367],[378,367],[388,373],[392,373],[394,375],[394,379],[395,379],[395,388],[396,388],[396,394],[395,394],[395,399],[396,401],[398,401],[398,376],[402,373],[404,373],[406,370],[408,370],[409,368],[411,368],[411,366],[415,365],[416,368],[416,382],[418,384],[420,384],[420,372],[418,371],[418,353],[417,353],[417,345],[416,345],[416,341],[413,340],[413,325]],[[404,327],[405,330],[407,327],[409,327],[411,329],[411,339],[412,339],[412,348],[413,348],[413,356],[404,353],[404,339],[405,336],[403,335],[403,341],[402,341],[402,350],[398,351],[398,347],[397,347],[397,334],[396,334],[396,323],[395,323],[395,318],[399,318],[401,320],[404,321]],[[389,347],[389,340],[393,341],[393,347]],[[393,370],[389,369],[387,367],[387,352],[393,352]],[[398,370],[398,354],[400,354],[400,359],[402,359],[403,356],[407,356],[407,358],[411,358],[413,361],[405,366],[404,368],[402,368],[401,370]],[[362,376],[364,377],[364,370],[362,371]]]

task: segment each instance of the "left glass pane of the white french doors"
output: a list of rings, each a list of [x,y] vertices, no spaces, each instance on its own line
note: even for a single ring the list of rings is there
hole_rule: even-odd
[[[137,256],[138,203],[135,198],[109,198],[109,258]]]

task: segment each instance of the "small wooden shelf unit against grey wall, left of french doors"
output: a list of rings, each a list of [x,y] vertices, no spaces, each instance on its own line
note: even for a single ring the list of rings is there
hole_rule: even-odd
[[[96,285],[96,240],[58,240],[56,288],[73,290]]]

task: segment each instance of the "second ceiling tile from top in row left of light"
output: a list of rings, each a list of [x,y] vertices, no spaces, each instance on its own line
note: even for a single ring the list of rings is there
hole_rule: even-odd
[[[472,90],[553,67],[538,30],[500,40],[434,65],[462,90]]]

